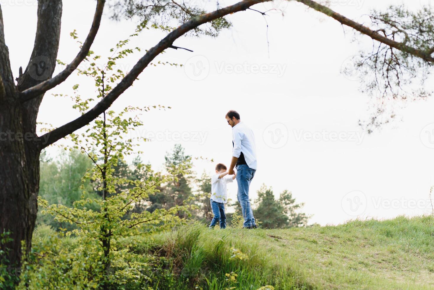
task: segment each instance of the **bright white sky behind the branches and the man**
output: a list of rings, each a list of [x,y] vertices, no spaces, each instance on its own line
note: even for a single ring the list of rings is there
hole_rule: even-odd
[[[76,29],[84,40],[95,1],[64,2],[58,58],[69,62],[78,52],[69,33]],[[429,2],[336,0],[331,1],[331,7],[363,21],[362,15],[371,8],[400,3],[418,8]],[[222,6],[231,3],[235,1],[220,2]],[[284,16],[270,12],[266,17],[270,54],[263,16],[251,10],[235,13],[229,17],[233,28],[217,39],[184,37],[174,43],[193,53],[170,49],[158,57],[184,67],[148,67],[134,87],[119,97],[114,109],[157,104],[173,108],[142,116],[146,125],[134,134],[163,134],[141,145],[143,159],[159,169],[165,153],[181,143],[187,154],[214,158],[212,164],[195,161],[198,175],[204,170],[212,174],[216,162],[230,163],[231,129],[224,115],[236,109],[256,135],[259,165],[251,185],[253,199],[263,183],[273,187],[276,197],[288,189],[298,202],[306,203],[306,213],[314,214],[310,222],[322,225],[356,216],[429,214],[431,204],[427,200],[434,183],[434,149],[429,147],[434,147],[434,139],[427,131],[434,132],[434,125],[424,127],[434,123],[434,101],[412,103],[402,111],[403,122],[366,134],[358,120],[368,118],[369,98],[358,91],[357,80],[340,73],[359,50],[357,43],[351,42],[351,31],[345,29],[344,34],[339,23],[300,4],[276,5],[284,10]],[[36,0],[1,0],[1,6],[16,76],[33,48]],[[264,11],[270,6],[253,8]],[[109,49],[134,29],[134,22],[116,23],[105,17],[92,50],[108,56]],[[132,45],[149,49],[162,37],[163,32],[146,30]],[[370,47],[371,42],[363,45]],[[141,55],[136,53],[118,65],[131,69]],[[72,93],[78,82],[82,96],[95,95],[92,82],[75,75],[50,93]],[[71,106],[70,100],[47,94],[38,121],[62,125],[78,116]],[[183,132],[187,132],[184,138],[188,140],[173,141]],[[329,141],[337,133],[342,134],[341,140]],[[320,140],[309,139],[309,134]],[[56,155],[58,151],[53,148],[50,152]],[[236,199],[236,183],[228,189],[230,197]]]

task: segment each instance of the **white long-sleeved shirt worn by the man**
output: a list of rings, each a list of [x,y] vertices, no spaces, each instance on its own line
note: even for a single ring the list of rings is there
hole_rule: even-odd
[[[243,122],[239,122],[237,125],[232,127],[232,140],[232,156],[240,158],[241,152],[243,152],[247,166],[252,169],[257,169],[256,142],[253,131],[244,125]]]

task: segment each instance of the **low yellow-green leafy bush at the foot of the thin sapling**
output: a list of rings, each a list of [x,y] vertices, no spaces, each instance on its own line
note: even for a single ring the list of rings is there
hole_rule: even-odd
[[[23,264],[19,288],[170,289],[176,285],[165,257],[135,252],[129,244],[113,247],[118,248],[113,251],[109,269],[105,269],[102,246],[95,247],[87,237],[39,235]]]

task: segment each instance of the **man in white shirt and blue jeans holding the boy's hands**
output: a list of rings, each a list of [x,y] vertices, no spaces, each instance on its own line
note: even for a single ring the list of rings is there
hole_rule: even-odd
[[[243,228],[257,228],[249,199],[250,181],[257,169],[255,135],[241,122],[237,111],[227,112],[226,121],[232,127],[233,153],[229,175],[235,173],[233,168],[237,166],[238,202],[244,217]]]

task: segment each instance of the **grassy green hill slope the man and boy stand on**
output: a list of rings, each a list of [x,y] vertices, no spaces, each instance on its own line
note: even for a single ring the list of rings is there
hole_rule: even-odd
[[[191,224],[122,244],[166,260],[150,289],[434,289],[430,216],[276,230]]]

